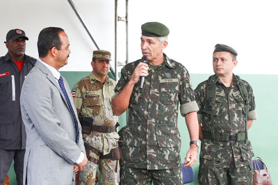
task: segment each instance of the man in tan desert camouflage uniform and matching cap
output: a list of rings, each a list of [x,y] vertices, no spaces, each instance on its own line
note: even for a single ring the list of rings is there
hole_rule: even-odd
[[[95,184],[98,164],[101,184],[117,184],[121,154],[116,131],[117,116],[111,108],[116,82],[107,75],[110,61],[109,51],[94,51],[92,73],[72,88],[88,156],[88,164],[80,172],[81,184]]]

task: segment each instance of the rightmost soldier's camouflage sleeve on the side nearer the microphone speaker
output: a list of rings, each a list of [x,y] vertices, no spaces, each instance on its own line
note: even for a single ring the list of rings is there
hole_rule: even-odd
[[[197,117],[198,117],[198,122],[201,123],[202,122],[202,118],[203,118],[203,109],[204,109],[204,95],[205,95],[205,83],[199,83],[199,85],[197,86],[197,88],[195,88],[195,98],[196,98],[196,102],[197,105],[199,107],[199,111],[197,112]]]

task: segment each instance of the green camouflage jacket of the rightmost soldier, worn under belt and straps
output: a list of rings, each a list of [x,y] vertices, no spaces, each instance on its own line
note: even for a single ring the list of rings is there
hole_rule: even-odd
[[[195,89],[196,102],[199,106],[198,122],[202,123],[203,131],[211,131],[211,115],[208,113],[208,101],[206,99],[207,81],[199,83]],[[243,81],[247,88],[248,106],[247,119],[256,119],[255,101],[252,88],[249,83]],[[226,88],[220,79],[213,75],[209,84],[216,83],[216,99],[213,104],[215,111],[214,128],[218,133],[237,134],[245,132],[245,101],[240,95],[240,90],[237,86],[238,77],[233,74],[233,81],[230,88]],[[253,150],[250,140],[229,142],[216,140],[202,140],[200,162],[204,164],[212,164],[215,167],[229,168],[231,161],[234,161],[232,166],[239,168],[250,165],[252,160]],[[202,160],[204,159],[204,160]]]

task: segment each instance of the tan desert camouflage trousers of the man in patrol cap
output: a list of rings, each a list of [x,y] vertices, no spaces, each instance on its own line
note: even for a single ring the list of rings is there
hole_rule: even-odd
[[[95,147],[102,155],[109,154],[112,149],[118,147],[119,135],[116,132],[113,133],[99,133],[92,131],[90,135],[83,135],[85,144]],[[88,155],[88,154],[87,154]],[[99,156],[90,150],[88,159],[92,156],[99,160],[99,172],[101,184],[115,185],[117,182],[117,168],[119,168],[118,160],[111,159],[99,159]],[[97,175],[97,164],[92,161],[88,161],[84,170],[80,172],[81,185],[95,184]]]

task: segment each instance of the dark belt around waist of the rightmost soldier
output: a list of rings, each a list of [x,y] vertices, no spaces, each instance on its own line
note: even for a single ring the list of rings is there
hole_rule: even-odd
[[[211,131],[204,131],[204,139],[213,140],[211,137]],[[215,133],[215,140],[226,141],[229,142],[230,140],[246,140],[246,133],[238,133],[238,134],[229,134],[229,133]]]

